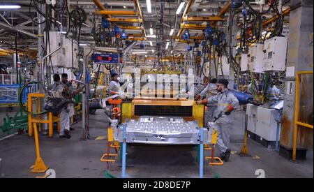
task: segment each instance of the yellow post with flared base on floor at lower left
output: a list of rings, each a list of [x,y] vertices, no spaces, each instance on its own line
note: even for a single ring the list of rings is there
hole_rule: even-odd
[[[46,170],[49,168],[45,165],[43,162],[43,159],[40,157],[39,152],[39,142],[38,142],[38,131],[37,131],[37,125],[36,123],[33,123],[33,132],[34,132],[34,138],[35,138],[35,147],[36,147],[36,161],[35,164],[31,166],[31,173],[43,173],[46,172]]]

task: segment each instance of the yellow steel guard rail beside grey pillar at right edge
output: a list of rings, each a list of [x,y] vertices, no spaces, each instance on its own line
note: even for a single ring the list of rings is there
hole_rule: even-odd
[[[294,105],[294,134],[293,134],[293,152],[292,161],[296,161],[297,156],[297,135],[298,135],[298,125],[305,126],[307,128],[313,128],[313,125],[305,124],[299,121],[299,75],[313,74],[313,71],[299,71],[296,75],[296,85],[295,85],[295,105]]]

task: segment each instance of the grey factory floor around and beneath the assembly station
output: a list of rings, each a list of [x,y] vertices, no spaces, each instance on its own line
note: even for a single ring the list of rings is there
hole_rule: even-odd
[[[244,111],[236,112],[237,121],[232,130],[232,151],[239,152],[243,142]],[[90,119],[92,138],[107,135],[108,122],[98,110]],[[106,151],[106,140],[80,140],[81,122],[73,126],[70,140],[40,135],[40,154],[46,165],[54,169],[56,177],[105,177],[106,163],[100,156]],[[35,162],[33,138],[27,134],[14,135],[0,140],[0,158],[5,177],[36,177],[43,174],[29,173]],[[313,177],[313,150],[308,150],[306,161],[292,163],[279,156],[274,149],[267,149],[251,139],[248,140],[251,157],[230,156],[222,166],[209,167],[204,161],[204,177],[257,177],[255,171],[262,169],[265,177]],[[127,177],[198,177],[196,147],[190,146],[128,146]],[[121,161],[110,164],[110,173],[121,175]]]

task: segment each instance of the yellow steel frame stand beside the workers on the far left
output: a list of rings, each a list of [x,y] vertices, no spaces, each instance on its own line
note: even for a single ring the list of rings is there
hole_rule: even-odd
[[[29,111],[33,111],[33,98],[44,98],[45,94],[39,94],[39,93],[31,93],[27,97],[27,108]],[[40,100],[38,99],[37,103],[38,107],[40,106]],[[37,112],[39,112],[40,108],[37,108]],[[37,115],[36,117],[33,117],[33,115],[29,116],[29,136],[33,136],[33,124],[39,124],[39,130],[40,130],[40,124],[48,124],[49,127],[49,137],[52,138],[53,136],[53,123],[57,122],[58,124],[58,133],[60,133],[60,115],[57,117],[54,117],[52,115],[52,112],[48,112],[48,119],[42,119],[40,115]]]

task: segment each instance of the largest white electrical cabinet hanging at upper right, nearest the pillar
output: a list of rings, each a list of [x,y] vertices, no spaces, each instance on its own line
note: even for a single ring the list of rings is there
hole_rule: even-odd
[[[285,71],[287,38],[276,36],[264,42],[263,71]]]

